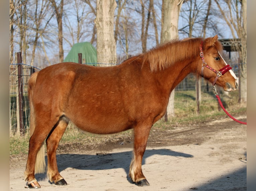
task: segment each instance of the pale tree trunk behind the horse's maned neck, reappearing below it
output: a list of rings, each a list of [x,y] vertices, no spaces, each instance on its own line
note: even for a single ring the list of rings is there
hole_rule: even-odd
[[[178,38],[178,20],[179,12],[182,6],[183,0],[163,0],[163,25],[161,34],[161,43],[168,42],[172,39]],[[174,90],[172,91],[169,103],[166,110],[166,117],[174,116]]]

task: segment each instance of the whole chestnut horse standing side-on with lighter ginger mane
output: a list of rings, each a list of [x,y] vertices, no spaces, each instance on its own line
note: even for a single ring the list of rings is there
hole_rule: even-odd
[[[114,67],[59,63],[31,75],[27,185],[40,188],[34,175],[45,169],[42,146],[45,139],[49,181],[67,185],[58,172],[56,149],[72,121],[85,131],[98,134],[133,128],[134,150],[129,176],[138,186],[148,186],[141,169],[142,157],[150,129],[164,115],[175,86],[189,73],[194,73],[225,91],[236,90],[236,77],[228,71],[231,68],[220,52],[222,46],[217,35],[207,39],[190,38],[161,45]],[[226,69],[228,72],[220,75]]]

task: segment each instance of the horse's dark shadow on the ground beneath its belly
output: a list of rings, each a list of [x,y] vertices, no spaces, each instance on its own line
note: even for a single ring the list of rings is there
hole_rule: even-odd
[[[191,154],[172,151],[170,149],[149,149],[145,151],[142,165],[146,163],[148,157],[153,155],[174,156],[174,157],[193,157]],[[127,174],[127,180],[130,178],[129,166],[132,159],[132,151],[107,153],[107,154],[58,154],[57,156],[59,172],[67,169],[79,170],[107,170],[115,168],[123,168]],[[47,157],[45,157],[47,162]],[[41,178],[42,178],[41,174]],[[45,174],[46,176],[46,174]],[[40,179],[40,178],[39,178]]]

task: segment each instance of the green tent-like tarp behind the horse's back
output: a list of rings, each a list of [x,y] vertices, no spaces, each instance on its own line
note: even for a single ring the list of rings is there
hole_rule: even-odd
[[[82,53],[82,63],[96,66],[97,50],[89,42],[76,43],[63,62],[78,63],[78,53]]]

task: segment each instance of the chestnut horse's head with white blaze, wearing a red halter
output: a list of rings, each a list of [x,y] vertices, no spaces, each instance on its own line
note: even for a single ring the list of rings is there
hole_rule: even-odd
[[[220,55],[222,45],[218,36],[205,39],[200,46],[202,66],[200,73],[213,85],[217,84],[225,91],[235,91],[238,87],[237,77]]]

